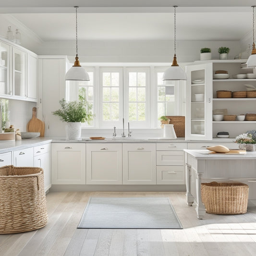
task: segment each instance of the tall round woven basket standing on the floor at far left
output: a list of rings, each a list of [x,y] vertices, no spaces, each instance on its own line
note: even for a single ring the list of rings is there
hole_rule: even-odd
[[[0,234],[42,228],[48,221],[42,168],[0,168]]]

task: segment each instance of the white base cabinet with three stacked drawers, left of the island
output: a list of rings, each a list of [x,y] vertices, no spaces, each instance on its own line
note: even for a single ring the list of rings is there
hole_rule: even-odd
[[[157,143],[157,184],[184,184],[186,143]]]

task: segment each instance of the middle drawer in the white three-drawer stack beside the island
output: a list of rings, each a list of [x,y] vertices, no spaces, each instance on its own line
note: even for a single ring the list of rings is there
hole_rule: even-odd
[[[157,165],[184,165],[183,151],[157,151]]]

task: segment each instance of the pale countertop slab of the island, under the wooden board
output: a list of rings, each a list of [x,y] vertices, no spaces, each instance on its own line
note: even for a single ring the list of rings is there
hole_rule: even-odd
[[[246,151],[246,154],[225,154],[225,153],[217,153],[217,154],[209,154],[211,151],[207,149],[202,150],[192,150],[192,149],[184,149],[184,152],[193,156],[196,159],[256,159],[256,151]]]

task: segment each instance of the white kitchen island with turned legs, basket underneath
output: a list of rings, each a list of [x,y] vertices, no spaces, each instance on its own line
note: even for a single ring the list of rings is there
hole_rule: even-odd
[[[185,152],[186,199],[194,204],[198,219],[206,213],[201,201],[201,183],[211,181],[256,181],[256,152],[239,154],[209,154],[209,150]]]

